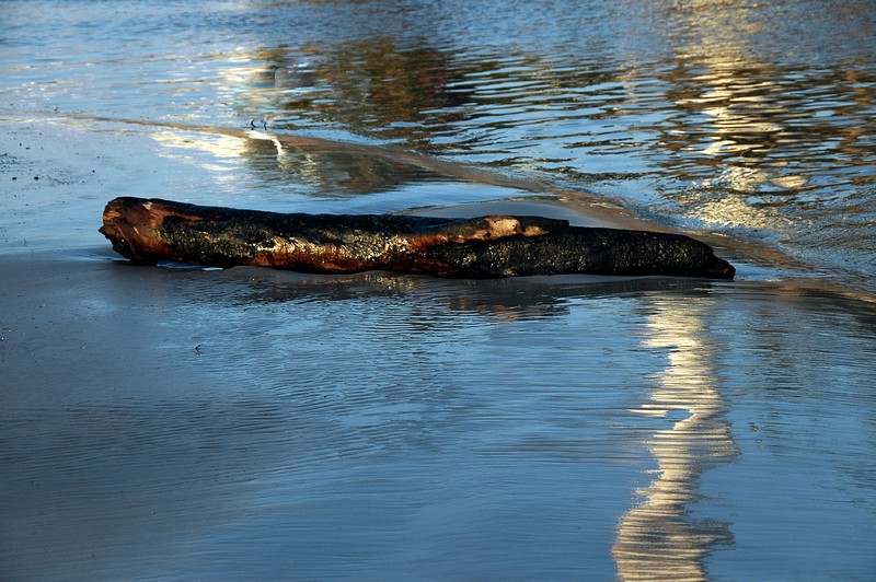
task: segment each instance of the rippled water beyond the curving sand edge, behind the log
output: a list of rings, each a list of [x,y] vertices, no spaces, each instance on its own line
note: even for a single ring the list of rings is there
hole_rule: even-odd
[[[390,142],[876,273],[867,0],[3,9],[12,110]]]

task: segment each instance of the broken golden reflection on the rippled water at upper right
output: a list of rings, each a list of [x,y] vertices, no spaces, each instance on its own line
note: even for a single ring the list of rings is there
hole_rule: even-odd
[[[698,188],[739,193],[705,197],[691,213],[715,224],[781,231],[787,225],[782,212],[750,195],[764,187],[797,190],[808,185],[806,174],[793,167],[795,155],[784,151],[800,142],[788,126],[795,102],[784,95],[799,88],[783,86],[781,71],[751,50],[751,37],[763,26],[757,7],[727,3],[714,10],[712,2],[696,0],[670,5],[676,9],[670,21],[679,31],[669,33],[679,62],[669,79],[680,88],[673,101],[680,110],[699,114],[702,123],[693,135],[687,128],[667,141],[715,166],[714,177],[694,182]]]

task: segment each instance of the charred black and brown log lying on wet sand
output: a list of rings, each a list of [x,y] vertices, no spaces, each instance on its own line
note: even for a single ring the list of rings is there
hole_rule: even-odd
[[[735,273],[708,245],[688,236],[569,226],[539,217],[281,214],[116,198],[104,210],[101,232],[116,252],[146,265],[170,259],[443,277],[580,272],[730,279]]]

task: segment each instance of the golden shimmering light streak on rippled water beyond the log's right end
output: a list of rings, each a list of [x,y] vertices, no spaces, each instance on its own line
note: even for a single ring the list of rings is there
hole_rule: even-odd
[[[759,163],[788,135],[786,121],[793,113],[782,105],[786,90],[777,82],[781,75],[748,48],[751,35],[760,32],[757,7],[740,3],[713,10],[711,4],[676,3],[676,28],[684,32],[670,34],[685,68],[704,69],[693,77],[699,90],[676,98],[680,108],[702,114],[708,128],[690,149],[723,161],[718,175],[700,185],[727,185],[745,193],[762,186],[805,187],[808,178],[789,172],[787,161],[779,158],[771,167]],[[729,212],[716,201],[701,213],[703,219],[722,222]]]

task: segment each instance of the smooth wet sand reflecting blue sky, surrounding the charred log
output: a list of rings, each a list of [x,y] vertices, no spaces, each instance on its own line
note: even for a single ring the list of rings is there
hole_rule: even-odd
[[[326,199],[260,200],[239,158],[151,130],[3,127],[0,578],[876,569],[872,304],[745,261],[724,283],[138,268],[96,232],[114,196]],[[425,184],[431,212],[600,222]]]

